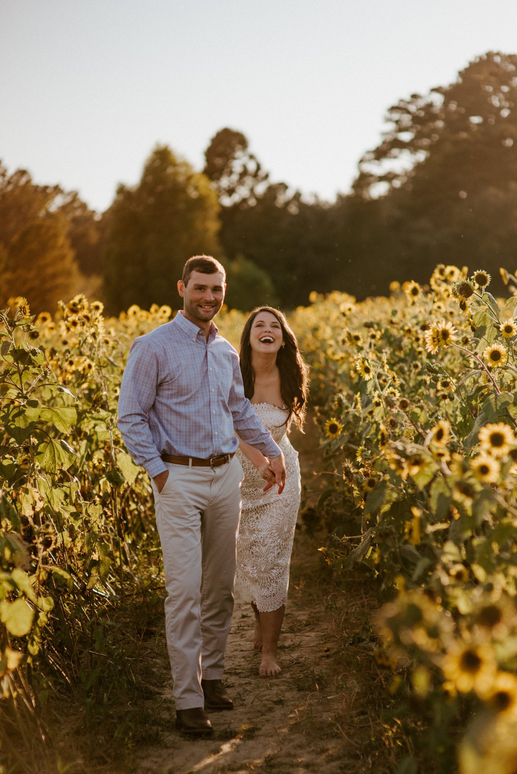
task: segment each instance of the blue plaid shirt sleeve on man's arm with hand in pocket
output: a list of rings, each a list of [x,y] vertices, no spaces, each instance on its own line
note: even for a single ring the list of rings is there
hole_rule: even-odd
[[[118,429],[129,454],[151,478],[167,470],[152,440],[149,409],[156,399],[159,368],[149,341],[133,341],[118,398]]]

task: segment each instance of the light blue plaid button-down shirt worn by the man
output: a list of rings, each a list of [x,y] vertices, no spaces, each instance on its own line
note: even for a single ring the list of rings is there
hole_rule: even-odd
[[[212,323],[208,341],[177,313],[133,341],[118,399],[118,427],[151,478],[167,470],[160,454],[231,454],[239,437],[268,457],[281,450],[245,398],[238,354]]]

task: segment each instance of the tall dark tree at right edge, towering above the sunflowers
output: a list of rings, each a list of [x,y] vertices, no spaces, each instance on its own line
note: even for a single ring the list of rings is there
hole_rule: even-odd
[[[438,262],[496,277],[515,265],[515,108],[517,55],[489,52],[454,84],[389,109],[341,218],[378,290],[390,279],[425,282]]]

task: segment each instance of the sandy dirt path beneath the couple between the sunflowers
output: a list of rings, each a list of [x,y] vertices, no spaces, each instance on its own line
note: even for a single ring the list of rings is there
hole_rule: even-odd
[[[319,467],[311,428],[293,443],[310,485],[317,480],[312,471]],[[375,599],[360,578],[350,582],[357,584],[353,594],[338,591],[313,541],[296,531],[279,643],[282,673],[276,679],[259,677],[252,611],[237,599],[224,678],[235,710],[211,713],[211,738],[193,741],[173,730],[172,685],[160,635],[155,657],[163,662],[170,731],[158,748],[138,751],[139,774],[392,771],[389,745],[378,741],[383,727],[371,698],[372,684],[382,680],[372,666],[368,640]]]

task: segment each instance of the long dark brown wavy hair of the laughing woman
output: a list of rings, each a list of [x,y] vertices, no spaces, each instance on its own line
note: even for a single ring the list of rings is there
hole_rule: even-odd
[[[298,341],[296,341],[296,336],[289,327],[286,316],[278,309],[255,307],[250,313],[248,320],[246,320],[245,327],[242,330],[239,352],[244,394],[246,398],[251,400],[255,392],[255,370],[252,366],[252,345],[249,341],[249,334],[252,330],[253,321],[260,312],[269,312],[274,315],[282,328],[282,337],[286,346],[280,347],[276,354],[276,365],[280,374],[280,394],[283,402],[289,409],[286,425],[289,427],[290,420],[293,419],[301,430],[303,420],[305,419],[309,392],[307,379],[309,366],[303,361],[298,348]]]

